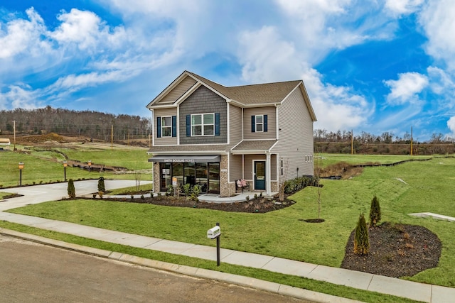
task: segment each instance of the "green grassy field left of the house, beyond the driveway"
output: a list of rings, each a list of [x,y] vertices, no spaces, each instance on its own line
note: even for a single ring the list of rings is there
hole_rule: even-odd
[[[109,148],[108,148],[109,147]],[[17,186],[19,181],[18,162],[24,163],[22,170],[22,184],[39,184],[40,182],[58,182],[64,180],[63,160],[68,155],[68,160],[87,162],[92,160],[94,164],[126,167],[128,170],[151,169],[147,162],[146,148],[132,148],[129,146],[117,146],[113,150],[110,145],[98,145],[93,148],[90,145],[70,145],[59,148],[39,148],[30,146],[18,146],[21,152],[3,150],[0,152],[0,188]],[[67,179],[91,179],[100,176],[112,179],[134,180],[132,174],[118,174],[114,172],[88,172],[78,167],[67,167]],[[151,176],[151,175],[150,175]],[[148,176],[143,175],[143,178]],[[145,179],[144,179],[145,180]]]

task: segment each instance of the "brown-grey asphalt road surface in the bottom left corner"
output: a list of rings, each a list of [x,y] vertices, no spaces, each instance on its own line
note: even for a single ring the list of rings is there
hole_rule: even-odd
[[[307,302],[0,236],[0,302]]]

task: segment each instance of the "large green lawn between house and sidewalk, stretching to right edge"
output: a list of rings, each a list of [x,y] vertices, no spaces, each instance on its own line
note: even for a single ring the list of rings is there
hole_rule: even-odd
[[[346,162],[349,160],[353,164],[382,162],[382,160],[396,162],[406,159],[404,156],[395,158],[395,156],[343,155],[338,157],[323,156],[327,161],[337,158]],[[223,248],[339,267],[343,260],[348,236],[355,227],[358,214],[364,212],[368,215],[370,201],[376,194],[380,200],[382,221],[425,226],[436,233],[443,244],[438,268],[425,270],[407,279],[455,287],[455,267],[453,266],[455,264],[455,224],[434,219],[418,219],[408,215],[429,211],[455,216],[452,198],[454,171],[455,158],[439,157],[429,161],[406,162],[392,167],[366,167],[362,175],[350,180],[323,180],[321,218],[326,221],[322,224],[308,224],[300,221],[300,219],[314,219],[318,215],[317,189],[314,187],[307,187],[294,194],[291,198],[296,201],[296,204],[293,206],[267,214],[237,214],[197,208],[84,199],[71,202],[47,202],[12,211],[207,246],[215,245],[214,241],[205,238],[207,229],[215,222],[220,222],[223,228]],[[183,259],[185,260],[182,261]],[[181,263],[193,262],[183,259]],[[200,262],[205,264],[205,261]],[[235,269],[232,273],[238,270],[240,269]],[[231,271],[228,270],[228,272]],[[255,272],[252,276],[255,275],[262,274]],[[283,279],[292,280],[291,277]],[[294,285],[295,281],[289,283]],[[305,288],[323,291],[317,290],[320,287],[319,282],[308,283],[309,286]],[[380,299],[373,296],[372,299],[368,297],[370,294],[363,294],[348,287],[340,288],[332,285],[322,288],[333,289],[333,291],[323,291],[326,293],[365,302],[405,302],[396,298],[390,299],[387,296],[380,296]]]

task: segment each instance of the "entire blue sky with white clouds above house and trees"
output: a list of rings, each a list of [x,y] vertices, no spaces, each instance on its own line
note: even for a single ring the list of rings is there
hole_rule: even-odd
[[[189,70],[303,79],[327,131],[455,137],[452,0],[0,0],[0,109],[150,116]]]

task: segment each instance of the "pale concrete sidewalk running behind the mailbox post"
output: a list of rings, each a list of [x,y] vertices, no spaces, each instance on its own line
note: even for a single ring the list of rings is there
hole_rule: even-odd
[[[132,181],[134,182],[134,181]],[[127,185],[129,186],[129,185]],[[66,187],[65,187],[66,189]],[[77,187],[76,187],[77,190]],[[95,192],[95,190],[93,191]],[[34,191],[36,193],[36,191]],[[61,194],[61,192],[60,192]],[[88,194],[88,192],[87,192]],[[62,196],[60,195],[60,198]],[[19,198],[14,198],[19,199]],[[9,199],[9,200],[14,200]],[[33,201],[37,201],[34,199]],[[49,199],[46,199],[49,200]],[[43,201],[41,201],[43,202]],[[6,204],[5,204],[6,203]],[[39,202],[38,202],[39,203]],[[4,212],[6,209],[22,206],[22,203],[14,203],[11,201],[0,203],[0,220],[10,221],[17,224],[33,226],[36,228],[43,228],[50,231],[58,231],[61,233],[68,233],[75,236],[82,236],[85,238],[92,238],[100,241],[110,243],[117,243],[126,246],[137,248],[145,248],[150,250],[159,250],[166,253],[173,253],[178,255],[186,255],[189,257],[201,258],[205,260],[216,260],[216,248],[211,246],[200,246],[193,243],[182,243],[176,241],[168,241],[160,238],[151,238],[146,236],[138,236],[130,233],[122,233],[118,231],[109,231],[102,228],[95,228],[90,226],[82,226],[79,224],[68,223],[64,221],[55,221],[33,216],[24,216],[20,214],[9,214]],[[30,203],[28,203],[30,204]],[[24,204],[25,205],[25,204]],[[4,233],[4,231],[1,231]],[[122,254],[110,252],[109,255],[116,255],[121,258]],[[116,258],[117,258],[116,257]],[[110,257],[109,257],[110,258]],[[124,258],[135,258],[132,256]],[[236,250],[221,249],[220,259],[222,263],[230,263],[235,265],[248,266],[252,268],[260,268],[272,272],[280,272],[287,275],[296,275],[299,277],[307,277],[309,279],[330,282],[336,285],[346,285],[348,287],[357,288],[360,290],[368,290],[373,292],[380,292],[383,294],[392,294],[397,297],[405,297],[416,301],[430,302],[430,303],[447,303],[455,302],[455,288],[441,287],[438,285],[427,285],[418,282],[410,282],[407,280],[400,280],[392,277],[384,277],[380,275],[373,275],[365,272],[357,272],[353,270],[345,270],[342,268],[331,268],[324,265],[315,265],[311,263],[304,263],[295,260],[287,260],[283,258],[275,258],[269,255],[258,255],[255,253],[245,253]],[[154,262],[149,260],[149,262]],[[168,265],[166,265],[168,266]],[[181,268],[181,266],[177,266]],[[210,278],[217,279],[223,275],[221,272],[214,272]],[[236,277],[237,280],[242,280]],[[250,279],[250,278],[247,278]],[[222,280],[222,279],[218,279]],[[234,281],[228,281],[234,282]],[[249,285],[250,287],[257,287]],[[265,285],[270,282],[264,282]],[[237,284],[237,283],[236,283]],[[260,284],[260,283],[259,283]],[[261,286],[262,287],[262,286]],[[259,287],[259,288],[261,288]],[[265,286],[264,286],[265,287]],[[267,290],[274,291],[277,285],[272,286]],[[284,285],[279,288],[286,288]],[[287,287],[289,291],[297,291],[295,287]],[[262,288],[261,288],[262,289]],[[308,291],[307,291],[308,292]],[[317,293],[315,293],[316,295]],[[291,294],[289,294],[291,295]],[[306,295],[306,294],[305,294]],[[318,294],[322,295],[322,294]],[[294,296],[296,297],[296,296]],[[298,296],[297,296],[298,297]],[[321,297],[313,297],[316,302],[353,302],[352,300],[342,299],[329,296],[326,299]],[[336,298],[336,300],[335,300]],[[304,299],[310,299],[304,297]],[[317,300],[316,300],[317,299]],[[311,299],[310,299],[311,300]],[[341,300],[341,301],[340,301]]]

